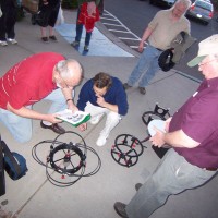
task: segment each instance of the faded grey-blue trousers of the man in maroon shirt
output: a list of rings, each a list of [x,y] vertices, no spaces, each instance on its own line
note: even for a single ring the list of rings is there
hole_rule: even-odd
[[[171,194],[197,187],[215,174],[216,171],[189,164],[171,148],[128,204],[126,213],[130,218],[147,218],[162,206]]]

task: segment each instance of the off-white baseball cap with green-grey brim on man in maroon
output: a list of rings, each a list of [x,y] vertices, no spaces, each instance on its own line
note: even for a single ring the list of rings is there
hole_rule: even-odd
[[[190,68],[195,66],[202,62],[204,58],[215,53],[218,53],[218,34],[211,35],[198,44],[197,57],[191,60],[187,65]]]

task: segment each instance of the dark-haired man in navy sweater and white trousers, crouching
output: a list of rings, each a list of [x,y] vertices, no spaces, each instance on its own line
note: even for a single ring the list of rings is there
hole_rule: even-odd
[[[98,73],[87,81],[78,95],[78,110],[90,113],[92,124],[97,124],[104,114],[107,114],[106,124],[96,142],[97,146],[104,146],[110,131],[128,113],[128,99],[125,90],[119,78],[107,73]],[[80,126],[81,131],[87,129],[87,123]]]

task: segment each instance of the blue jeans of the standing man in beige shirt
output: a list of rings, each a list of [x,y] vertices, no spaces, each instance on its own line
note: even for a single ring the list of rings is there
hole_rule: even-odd
[[[131,73],[128,84],[133,86],[141,78],[138,86],[145,87],[153,80],[156,72],[159,70],[158,58],[161,51],[156,49],[155,47],[147,45],[141,58],[137,62],[137,65],[134,68]]]

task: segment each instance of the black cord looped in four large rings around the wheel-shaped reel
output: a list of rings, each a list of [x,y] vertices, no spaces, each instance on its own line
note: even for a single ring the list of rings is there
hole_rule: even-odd
[[[52,140],[41,141],[32,148],[32,156],[35,159],[35,161],[46,168],[46,175],[47,175],[47,179],[49,180],[49,182],[51,182],[53,185],[60,186],[60,187],[66,187],[66,186],[73,185],[75,182],[81,180],[83,177],[94,175],[99,171],[99,169],[101,167],[101,160],[100,160],[99,155],[97,154],[97,152],[94,148],[86,145],[84,138],[80,134],[77,134],[75,132],[71,132],[71,131],[68,131],[65,133],[77,135],[80,137],[80,140],[82,141],[82,143],[76,143],[76,144],[72,143],[72,142],[70,142],[69,144],[63,143],[63,142],[59,141],[59,137],[63,135],[63,134],[60,134],[53,141]],[[50,146],[50,152],[49,152],[49,155],[47,156],[46,160],[43,161],[38,157],[37,153],[38,153],[39,146],[45,147],[45,145]],[[61,148],[63,148],[63,149],[61,149]],[[69,157],[68,165],[73,167],[72,169],[68,169],[68,167],[61,168],[57,165],[58,161],[64,162],[64,157],[66,156],[65,149],[69,149],[68,150],[68,155],[69,155],[68,156]],[[53,158],[55,154],[58,152],[63,152],[64,157],[59,158],[57,160],[50,159],[50,158]],[[72,152],[72,153],[70,153],[70,152]],[[93,171],[85,173],[87,152],[93,153],[97,157],[97,166]],[[77,155],[81,159],[80,165],[77,167],[75,167],[73,165],[73,162],[71,161],[71,157],[75,156],[75,155]],[[68,177],[70,179],[73,178],[73,181],[70,181],[70,182],[69,181],[68,182],[59,181],[52,177],[55,173],[62,174],[62,180],[63,180],[63,178]]]

